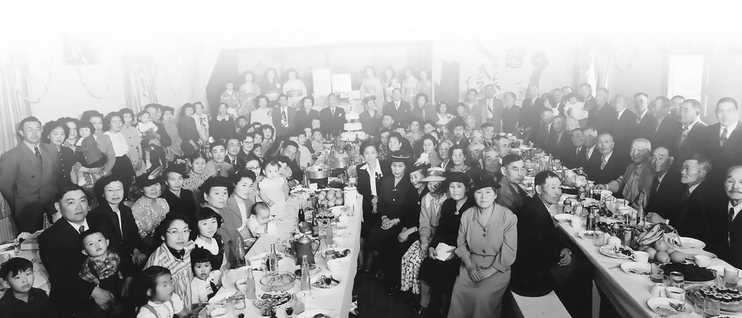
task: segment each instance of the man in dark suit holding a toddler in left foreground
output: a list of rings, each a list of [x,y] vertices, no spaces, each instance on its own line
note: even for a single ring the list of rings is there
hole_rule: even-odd
[[[88,216],[88,198],[78,185],[57,191],[54,206],[62,218],[39,236],[39,256],[49,272],[49,298],[60,317],[105,317],[114,294],[79,275],[85,255],[80,233],[93,228],[111,237],[110,223],[101,215]],[[116,248],[111,240],[109,248]],[[53,309],[53,310],[54,310]]]

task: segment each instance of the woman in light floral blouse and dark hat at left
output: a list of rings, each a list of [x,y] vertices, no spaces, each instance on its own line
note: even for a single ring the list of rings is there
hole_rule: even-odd
[[[168,201],[160,198],[162,194],[162,176],[160,169],[152,170],[150,173],[137,176],[134,186],[142,191],[142,196],[131,205],[131,213],[139,228],[139,237],[144,241],[148,251],[153,251],[159,245],[155,238],[154,229],[165,219],[165,214],[170,212]]]

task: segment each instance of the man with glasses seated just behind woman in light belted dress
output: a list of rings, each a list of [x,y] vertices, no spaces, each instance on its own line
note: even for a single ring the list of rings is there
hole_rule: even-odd
[[[525,162],[520,156],[509,154],[502,158],[500,173],[503,178],[500,179],[495,202],[517,215],[520,208],[531,199],[522,187],[526,173]]]

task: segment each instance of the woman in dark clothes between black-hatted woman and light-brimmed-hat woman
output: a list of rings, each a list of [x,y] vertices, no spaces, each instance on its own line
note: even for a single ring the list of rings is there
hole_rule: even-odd
[[[388,275],[390,281],[395,282],[395,285],[389,291],[390,294],[395,294],[399,290],[398,286],[401,287],[401,281],[403,279],[409,280],[417,278],[417,272],[414,273],[414,277],[410,277],[410,273],[403,273],[400,271],[400,268],[402,256],[407,253],[410,245],[416,244],[418,242],[418,228],[420,226],[420,203],[422,202],[423,197],[428,193],[428,189],[427,187],[425,187],[425,182],[422,182],[422,179],[424,179],[427,175],[428,167],[430,167],[430,165],[413,165],[412,167],[410,167],[408,172],[410,176],[410,183],[412,183],[414,189],[413,193],[411,193],[409,198],[407,199],[407,206],[404,208],[404,214],[402,214],[401,216],[402,229],[397,236],[398,244],[396,247],[396,251],[394,252],[393,262],[390,264],[390,268],[393,268],[393,271],[391,271]],[[407,277],[405,277],[403,274],[408,275]]]

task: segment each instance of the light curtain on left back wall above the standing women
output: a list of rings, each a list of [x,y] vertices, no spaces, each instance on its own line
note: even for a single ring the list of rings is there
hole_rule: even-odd
[[[157,66],[150,56],[125,55],[122,59],[126,107],[139,113],[144,105],[157,103]]]

